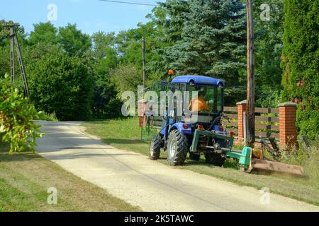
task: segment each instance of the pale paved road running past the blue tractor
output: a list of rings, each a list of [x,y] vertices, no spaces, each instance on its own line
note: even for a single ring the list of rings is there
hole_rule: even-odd
[[[40,155],[145,211],[319,211],[275,194],[270,205],[262,205],[257,189],[118,150],[86,135],[77,122],[38,123],[45,132],[38,141]]]

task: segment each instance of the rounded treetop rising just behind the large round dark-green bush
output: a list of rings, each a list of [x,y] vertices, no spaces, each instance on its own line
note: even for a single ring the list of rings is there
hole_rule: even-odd
[[[68,24],[66,27],[59,28],[57,35],[58,42],[70,56],[82,57],[91,49],[91,39],[89,35],[77,30],[77,25]]]

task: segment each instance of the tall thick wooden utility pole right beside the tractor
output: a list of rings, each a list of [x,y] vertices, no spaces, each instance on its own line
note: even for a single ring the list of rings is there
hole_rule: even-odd
[[[252,1],[247,0],[247,145],[254,147],[254,20]]]

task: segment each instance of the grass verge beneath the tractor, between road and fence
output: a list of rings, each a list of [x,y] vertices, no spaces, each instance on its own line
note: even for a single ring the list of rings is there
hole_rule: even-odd
[[[132,150],[148,156],[149,143],[140,141],[138,119],[118,119],[108,121],[94,121],[84,124],[86,132],[99,136],[105,143],[123,150]],[[316,148],[315,148],[316,149]],[[318,154],[318,150],[316,152]],[[318,155],[315,155],[318,157]],[[166,153],[162,151],[159,162],[167,165]],[[286,161],[287,162],[287,161]],[[318,158],[310,159],[311,164],[304,162],[308,177],[291,177],[279,174],[245,174],[237,170],[234,160],[227,160],[224,167],[206,165],[201,157],[200,162],[186,160],[180,169],[189,169],[200,174],[217,177],[234,182],[242,186],[252,186],[257,189],[269,188],[274,194],[280,194],[300,201],[319,206],[319,178]],[[310,164],[310,165],[308,165]]]

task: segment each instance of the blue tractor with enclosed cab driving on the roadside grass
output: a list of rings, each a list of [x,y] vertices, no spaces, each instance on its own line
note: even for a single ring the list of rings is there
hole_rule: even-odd
[[[205,76],[178,76],[155,86],[161,91],[181,91],[180,101],[188,101],[188,105],[182,104],[182,112],[177,114],[175,100],[173,110],[164,114],[160,132],[151,139],[150,159],[158,160],[163,148],[170,165],[184,164],[189,153],[191,160],[199,160],[203,154],[206,163],[222,166],[233,146],[233,137],[222,125],[225,82]],[[186,91],[189,96],[185,96]],[[191,95],[194,92],[196,98]]]

